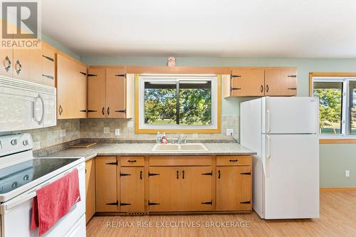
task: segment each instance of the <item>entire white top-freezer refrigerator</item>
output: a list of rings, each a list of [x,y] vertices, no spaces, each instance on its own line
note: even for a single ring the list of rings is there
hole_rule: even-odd
[[[253,209],[265,219],[319,217],[319,101],[241,102],[241,145],[253,157]]]

